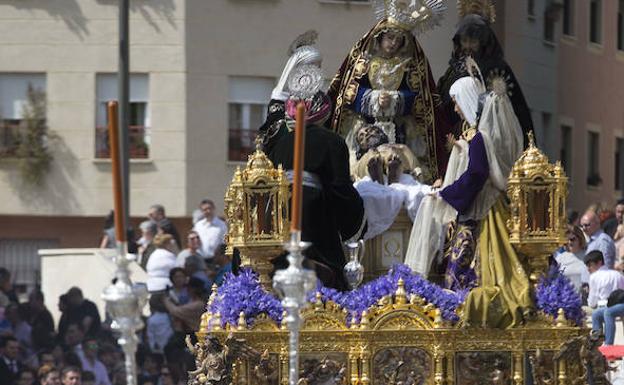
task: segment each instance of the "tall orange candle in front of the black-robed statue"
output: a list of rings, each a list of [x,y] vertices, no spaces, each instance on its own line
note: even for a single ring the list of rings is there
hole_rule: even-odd
[[[305,148],[305,106],[299,103],[295,115],[295,156],[293,162],[292,220],[290,231],[301,231],[301,199],[303,196],[303,159]]]

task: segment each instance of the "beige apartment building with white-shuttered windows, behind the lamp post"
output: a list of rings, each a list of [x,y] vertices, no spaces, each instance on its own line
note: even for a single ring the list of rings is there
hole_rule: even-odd
[[[112,208],[104,106],[117,92],[117,5],[0,4],[0,256],[18,282],[38,279],[26,265],[37,265],[39,248],[97,247]],[[444,25],[421,38],[436,76],[446,69],[456,21],[450,6]],[[182,232],[200,199],[214,199],[220,211],[292,40],[317,30],[330,78],[373,23],[370,4],[356,0],[132,0],[135,223],[154,203]],[[54,135],[39,187],[22,182],[12,147],[29,84],[45,92]]]

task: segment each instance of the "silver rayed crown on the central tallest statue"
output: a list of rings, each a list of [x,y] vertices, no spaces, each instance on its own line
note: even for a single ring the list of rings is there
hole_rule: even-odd
[[[388,20],[414,35],[440,25],[446,11],[444,0],[373,0],[377,21]]]

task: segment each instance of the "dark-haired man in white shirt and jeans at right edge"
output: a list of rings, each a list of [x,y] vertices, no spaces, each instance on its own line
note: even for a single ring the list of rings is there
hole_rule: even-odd
[[[592,313],[592,329],[603,330],[605,345],[613,345],[615,318],[624,315],[624,303],[607,307],[607,300],[613,291],[624,289],[624,275],[605,266],[604,257],[598,250],[591,251],[585,256],[585,265],[590,274],[587,304],[596,308]]]

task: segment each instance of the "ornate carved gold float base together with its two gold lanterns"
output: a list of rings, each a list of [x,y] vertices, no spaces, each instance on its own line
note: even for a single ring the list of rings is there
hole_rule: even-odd
[[[529,258],[535,277],[544,272],[546,250],[563,241],[566,183],[561,167],[549,164],[532,141],[512,171],[511,242]],[[260,150],[236,171],[226,193],[229,248],[240,248],[244,263],[263,276],[267,270],[261,269],[287,239],[287,203],[283,172]],[[261,211],[271,213],[270,226],[260,221]],[[209,307],[216,298],[215,288]],[[573,385],[588,384],[589,372],[595,384],[606,383],[599,381],[606,381],[596,349],[601,341],[572,326],[563,309],[513,329],[462,327],[445,321],[432,303],[408,295],[402,280],[358,319],[321,293],[312,302],[302,311],[301,385]],[[459,318],[461,312],[460,306]],[[199,369],[189,385],[288,384],[288,330],[268,316],[248,324],[241,313],[223,326],[220,314],[206,312],[196,336],[199,342],[189,348]]]

